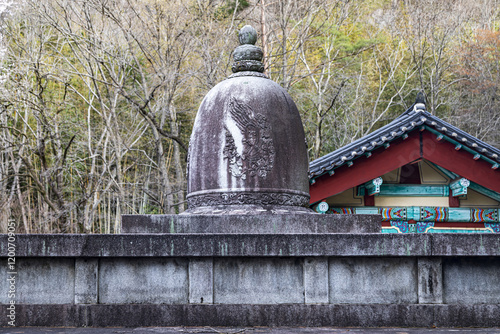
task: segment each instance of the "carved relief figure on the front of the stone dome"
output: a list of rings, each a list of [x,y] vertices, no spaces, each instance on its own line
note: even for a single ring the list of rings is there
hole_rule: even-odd
[[[233,134],[225,127],[226,144],[223,155],[228,160],[229,172],[243,180],[255,176],[266,178],[274,166],[276,155],[266,116],[254,113],[250,106],[234,97],[228,100],[226,113],[243,137],[243,150],[239,154]]]

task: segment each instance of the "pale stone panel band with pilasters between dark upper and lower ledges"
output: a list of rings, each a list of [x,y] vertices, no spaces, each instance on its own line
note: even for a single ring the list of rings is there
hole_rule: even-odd
[[[18,265],[18,304],[500,303],[498,258],[29,257]],[[0,273],[2,291],[7,278]]]

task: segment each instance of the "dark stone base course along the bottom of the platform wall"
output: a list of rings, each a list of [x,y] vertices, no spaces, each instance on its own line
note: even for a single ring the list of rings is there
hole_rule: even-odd
[[[0,308],[0,326],[7,326]],[[16,305],[22,326],[497,327],[499,304]]]

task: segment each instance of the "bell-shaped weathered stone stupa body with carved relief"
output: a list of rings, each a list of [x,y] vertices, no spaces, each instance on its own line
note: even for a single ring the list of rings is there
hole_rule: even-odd
[[[237,73],[206,95],[194,122],[187,213],[228,206],[304,210],[308,157],[297,107],[265,75],[238,72],[235,66]],[[255,67],[254,60],[250,66]]]

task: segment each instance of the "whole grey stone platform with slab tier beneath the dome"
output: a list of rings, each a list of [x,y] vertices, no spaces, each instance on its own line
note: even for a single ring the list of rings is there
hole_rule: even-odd
[[[221,216],[190,225],[181,216],[159,223],[129,216],[124,228],[136,233],[18,235],[16,324],[500,325],[498,236],[332,233],[347,217],[303,217]],[[363,219],[371,226],[380,218]],[[245,222],[255,233],[236,233]],[[226,228],[233,233],[217,233]],[[6,245],[1,235],[5,263]],[[0,273],[1,291],[7,275]],[[3,326],[8,302],[2,294]]]

